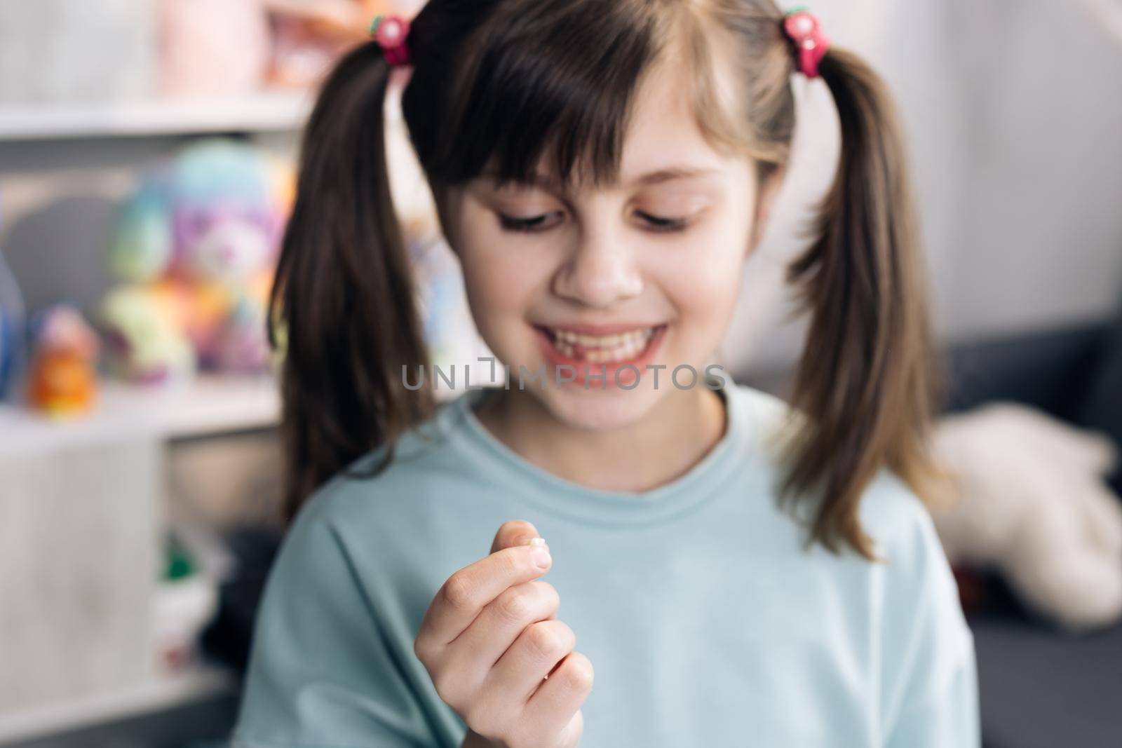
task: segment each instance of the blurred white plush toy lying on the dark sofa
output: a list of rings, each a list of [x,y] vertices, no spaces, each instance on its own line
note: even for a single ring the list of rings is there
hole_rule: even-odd
[[[1122,618],[1118,446],[1037,409],[994,403],[944,417],[940,461],[957,502],[932,509],[949,561],[995,569],[1028,608],[1072,631]]]

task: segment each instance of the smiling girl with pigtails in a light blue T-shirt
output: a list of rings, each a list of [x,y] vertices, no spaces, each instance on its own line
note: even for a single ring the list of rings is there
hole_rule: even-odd
[[[439,407],[386,174],[401,65],[509,367]],[[707,364],[782,179],[794,72],[829,86],[843,151],[789,273],[812,318],[788,406]],[[884,86],[807,12],[383,19],[303,144],[273,297],[295,521],[236,745],[977,746],[973,639],[920,498],[939,477],[921,267]]]

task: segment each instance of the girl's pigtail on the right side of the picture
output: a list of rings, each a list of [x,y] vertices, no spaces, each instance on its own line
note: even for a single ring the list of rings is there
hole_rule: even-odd
[[[898,114],[855,55],[830,49],[819,74],[837,105],[842,155],[820,238],[788,268],[811,322],[791,398],[809,425],[783,493],[818,488],[808,542],[836,552],[842,538],[874,560],[858,501],[882,464],[929,501],[941,493],[927,444],[944,382]]]

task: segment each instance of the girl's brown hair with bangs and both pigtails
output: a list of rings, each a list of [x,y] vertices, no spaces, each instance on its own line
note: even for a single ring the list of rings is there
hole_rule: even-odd
[[[591,19],[595,19],[592,22]],[[614,183],[635,94],[677,54],[693,73],[698,124],[717,149],[787,163],[795,55],[770,0],[430,0],[412,21],[414,68],[402,98],[434,193],[497,166],[528,182],[542,158],[570,182]],[[323,481],[429,417],[402,366],[426,362],[413,279],[386,174],[390,68],[376,43],[346,55],[307,124],[296,204],[270,303],[283,369],[292,516]],[[789,268],[811,315],[792,405],[784,497],[817,493],[808,542],[872,558],[857,520],[864,487],[888,464],[932,493],[926,450],[936,384],[923,260],[900,126],[883,83],[856,56],[820,64],[837,102],[842,159],[820,206],[820,237]],[[737,82],[729,93],[720,81]]]

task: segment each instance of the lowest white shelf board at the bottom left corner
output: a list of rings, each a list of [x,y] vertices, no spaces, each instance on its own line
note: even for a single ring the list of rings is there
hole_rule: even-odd
[[[224,668],[197,665],[184,673],[107,693],[15,712],[0,712],[0,744],[30,740],[113,720],[139,717],[193,701],[234,693],[237,678]]]

